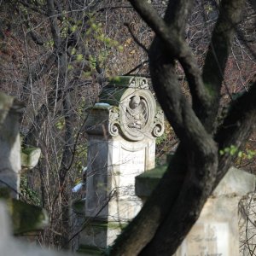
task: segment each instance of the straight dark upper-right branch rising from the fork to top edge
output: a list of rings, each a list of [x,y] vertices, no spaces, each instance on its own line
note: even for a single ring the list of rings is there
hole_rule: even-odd
[[[220,15],[212,32],[212,41],[209,45],[202,74],[205,87],[211,95],[212,114],[207,119],[209,130],[212,129],[218,114],[220,89],[224,80],[224,68],[230,54],[235,28],[240,21],[241,10],[244,4],[244,0],[222,1]]]

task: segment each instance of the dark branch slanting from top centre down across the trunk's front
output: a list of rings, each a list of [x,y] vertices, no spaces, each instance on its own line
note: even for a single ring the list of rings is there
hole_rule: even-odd
[[[166,9],[165,20],[162,20],[155,9],[147,1],[130,1],[143,20],[148,23],[156,35],[162,40],[161,47],[166,48],[170,58],[180,61],[189,82],[189,88],[193,99],[193,109],[199,119],[204,123],[209,105],[209,94],[202,83],[201,71],[197,65],[195,56],[186,44],[183,34],[186,17],[189,15],[190,4],[188,1],[174,1],[169,3]],[[168,15],[167,15],[168,14]],[[179,17],[170,18],[169,15]],[[178,16],[180,15],[180,16]],[[175,20],[175,21],[174,21]],[[171,25],[171,22],[174,24]]]

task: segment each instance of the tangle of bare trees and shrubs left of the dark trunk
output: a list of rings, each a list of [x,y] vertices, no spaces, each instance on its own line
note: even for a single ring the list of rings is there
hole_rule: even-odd
[[[21,193],[49,212],[40,242],[66,247],[71,189],[86,166],[88,108],[106,77],[143,72],[147,56],[124,23],[142,31],[145,44],[152,32],[125,1],[12,0],[0,6],[0,88],[26,102],[22,146],[42,149],[38,167],[22,177]]]

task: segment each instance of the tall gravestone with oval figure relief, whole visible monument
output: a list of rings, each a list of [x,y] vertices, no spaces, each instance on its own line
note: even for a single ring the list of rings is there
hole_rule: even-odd
[[[88,134],[86,228],[80,244],[105,248],[142,207],[135,177],[154,168],[155,139],[164,115],[138,77],[117,77],[91,109]]]

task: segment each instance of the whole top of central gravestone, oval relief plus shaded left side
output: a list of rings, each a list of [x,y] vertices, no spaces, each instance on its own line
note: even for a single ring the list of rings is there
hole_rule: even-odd
[[[84,128],[87,133],[140,141],[159,137],[164,131],[164,113],[156,106],[148,80],[117,77],[104,87],[100,101],[91,109]]]

